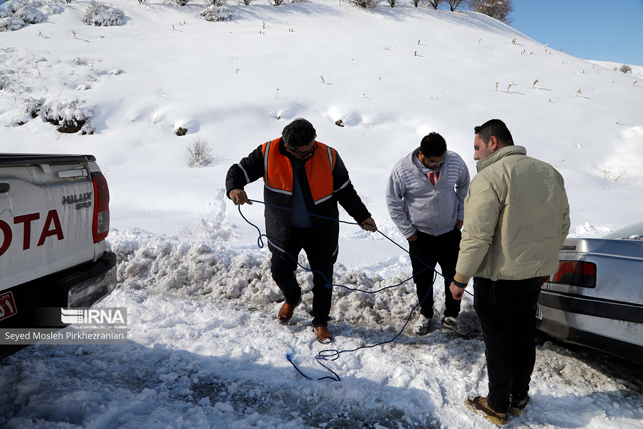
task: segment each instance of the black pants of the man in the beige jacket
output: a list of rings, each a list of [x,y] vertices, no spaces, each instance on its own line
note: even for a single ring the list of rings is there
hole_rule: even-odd
[[[473,279],[473,308],[480,319],[489,376],[489,406],[506,413],[509,395],[529,392],[536,361],[536,307],[541,277],[526,280]]]

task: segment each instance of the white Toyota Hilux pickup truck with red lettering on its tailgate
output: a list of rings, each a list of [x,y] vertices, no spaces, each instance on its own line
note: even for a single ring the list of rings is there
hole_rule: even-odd
[[[0,153],[0,334],[43,307],[91,307],[116,287],[109,190],[91,155]],[[24,346],[0,345],[0,359]]]

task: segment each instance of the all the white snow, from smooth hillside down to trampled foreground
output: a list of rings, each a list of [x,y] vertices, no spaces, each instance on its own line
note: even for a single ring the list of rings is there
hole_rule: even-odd
[[[305,312],[312,296],[290,325],[276,323],[267,251],[222,188],[233,162],[296,117],[338,149],[379,229],[401,245],[384,198],[395,161],[437,131],[473,175],[473,127],[494,117],[565,177],[572,235],[643,213],[643,79],[484,15],[314,0],[234,5],[231,21],[212,23],[197,3],[117,0],[123,25],[94,27],[82,22],[89,1],[30,5],[47,22],[0,32],[0,151],[96,156],[120,261],[119,287],[101,305],[128,308],[129,344],[37,345],[1,361],[0,426],[489,426],[463,403],[486,393],[479,338],[407,328],[327,361],[341,382],[309,381],[285,358],[294,351],[306,374],[329,374],[314,361],[324,347]],[[45,120],[55,116],[84,117],[88,134],[59,133]],[[192,168],[186,146],[197,139],[212,160]],[[262,198],[260,183],[247,190]],[[262,227],[260,204],[242,211]],[[341,225],[340,240],[336,283],[374,290],[410,276],[408,254],[383,236]],[[298,278],[311,289],[311,274]],[[336,287],[332,347],[392,339],[414,294]],[[463,309],[478,332],[470,296]],[[532,403],[509,427],[642,426],[640,368],[550,342],[537,359]]]

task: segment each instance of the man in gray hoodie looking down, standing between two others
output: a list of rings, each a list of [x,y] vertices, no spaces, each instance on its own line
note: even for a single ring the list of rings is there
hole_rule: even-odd
[[[455,152],[446,149],[444,137],[430,133],[420,147],[395,164],[386,187],[391,219],[409,244],[413,281],[421,302],[414,327],[419,335],[431,330],[433,273],[440,264],[444,275],[445,305],[442,325],[459,334],[469,330],[460,323],[460,300],[449,285],[455,274],[464,220],[464,198],[469,189],[469,169]],[[428,267],[427,267],[428,266]]]

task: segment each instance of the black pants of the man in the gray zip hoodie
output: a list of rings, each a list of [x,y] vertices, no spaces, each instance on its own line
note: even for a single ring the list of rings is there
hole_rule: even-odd
[[[446,309],[444,310],[444,316],[457,318],[458,314],[460,314],[461,300],[454,300],[449,290],[449,285],[451,285],[453,276],[455,276],[455,264],[458,262],[460,238],[462,238],[460,230],[453,228],[448,233],[438,236],[417,231],[417,240],[408,242],[408,250],[415,256],[415,258],[411,256],[411,266],[413,267],[413,281],[417,290],[417,300],[422,303],[420,313],[427,318],[433,318],[433,291],[431,287],[433,287],[433,274],[435,271],[425,268],[426,265],[435,268],[436,263],[440,264],[442,274],[445,277],[444,303]],[[422,269],[425,270],[422,271]]]

